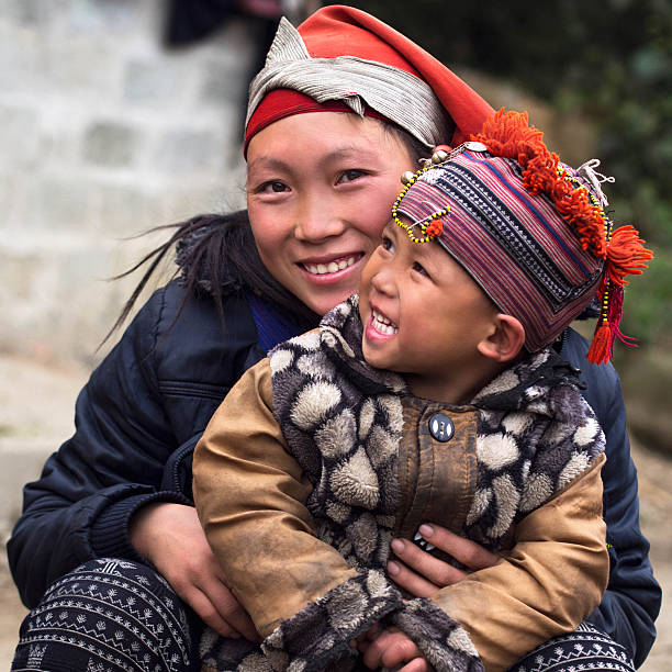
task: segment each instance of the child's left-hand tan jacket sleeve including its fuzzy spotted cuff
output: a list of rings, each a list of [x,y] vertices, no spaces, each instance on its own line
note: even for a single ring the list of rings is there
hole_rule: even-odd
[[[273,417],[262,360],[208,425],[194,453],[193,491],[208,540],[266,637],[273,669],[290,660],[326,669],[351,656],[349,640],[401,604],[381,571],[348,567],[317,538],[306,507],[312,490]]]

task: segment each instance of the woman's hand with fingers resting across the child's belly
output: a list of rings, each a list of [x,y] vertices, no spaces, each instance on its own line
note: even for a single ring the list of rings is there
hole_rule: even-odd
[[[430,597],[437,590],[461,581],[468,573],[492,567],[499,556],[439,525],[421,525],[418,531],[429,544],[469,568],[459,570],[418,548],[407,539],[394,539],[392,550],[401,562],[388,562],[394,583],[416,597]]]

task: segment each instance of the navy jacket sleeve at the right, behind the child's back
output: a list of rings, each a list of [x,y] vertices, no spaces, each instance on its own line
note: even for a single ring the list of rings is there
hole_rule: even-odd
[[[656,639],[653,623],[660,611],[661,590],[649,562],[649,542],[639,527],[637,470],[630,457],[620,381],[614,367],[591,365],[586,352],[585,339],[568,329],[561,355],[582,370],[584,396],[606,436],[607,462],[602,480],[609,582],[589,620],[626,646],[639,667]]]

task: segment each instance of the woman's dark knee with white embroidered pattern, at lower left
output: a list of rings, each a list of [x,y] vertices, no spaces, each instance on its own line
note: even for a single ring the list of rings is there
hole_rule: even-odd
[[[181,672],[190,648],[187,615],[163,576],[135,562],[91,560],[27,616],[14,669]]]

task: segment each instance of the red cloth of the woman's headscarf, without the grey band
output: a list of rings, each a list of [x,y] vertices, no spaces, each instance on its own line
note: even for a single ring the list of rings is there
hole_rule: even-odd
[[[322,8],[299,26],[299,34],[312,58],[355,56],[392,66],[426,82],[453,122],[451,136],[441,138],[443,143],[459,145],[471,133],[480,131],[493,112],[473,89],[425,49],[361,10],[338,4]],[[401,104],[399,93],[396,97]],[[302,112],[333,111],[334,105],[337,111],[351,111],[336,100],[320,103],[304,93],[276,89],[254,110],[247,124],[245,147],[256,133],[275,121]],[[365,113],[370,111],[367,109]],[[380,114],[372,115],[380,117]]]

